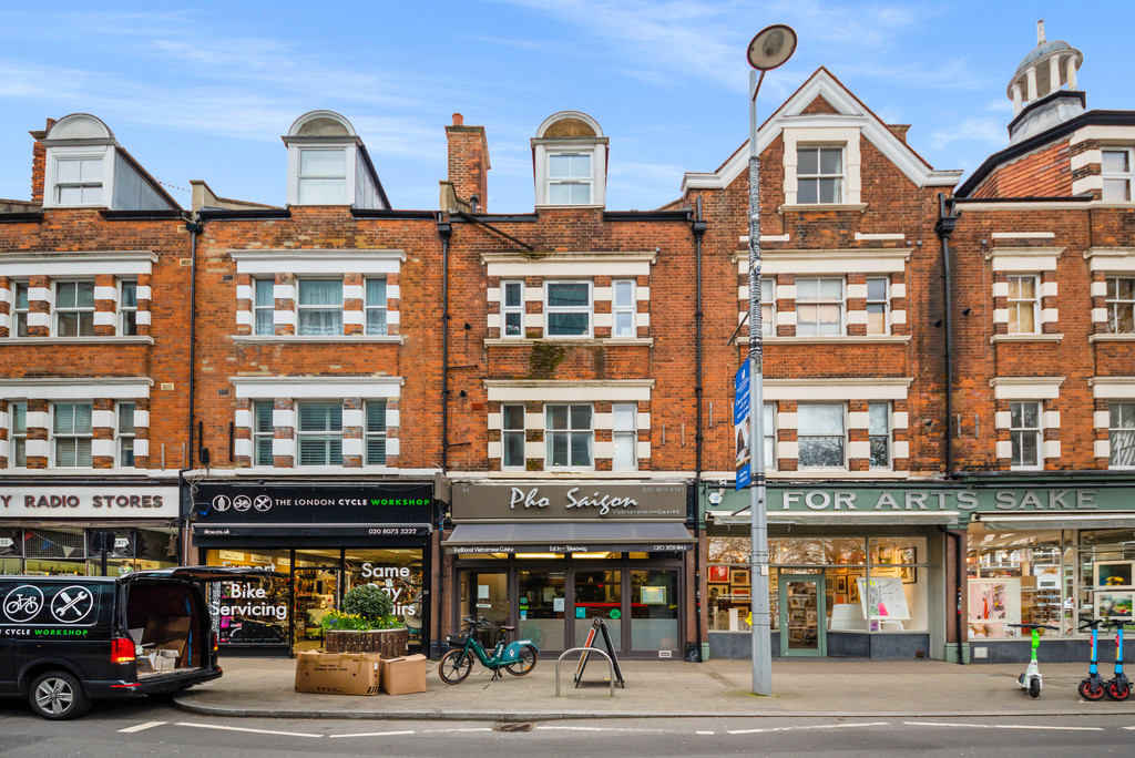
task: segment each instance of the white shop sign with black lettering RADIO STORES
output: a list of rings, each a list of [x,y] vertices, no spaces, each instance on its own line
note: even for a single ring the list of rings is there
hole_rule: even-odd
[[[176,519],[176,487],[0,485],[0,519]]]

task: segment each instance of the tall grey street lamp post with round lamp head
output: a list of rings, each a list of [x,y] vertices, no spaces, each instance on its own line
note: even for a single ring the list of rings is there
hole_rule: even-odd
[[[765,492],[764,344],[760,335],[760,159],[757,92],[765,71],[792,57],[796,32],[776,24],[749,42],[749,576],[753,581],[753,692],[773,693],[772,625],[768,615],[768,514]],[[757,75],[757,71],[760,75]],[[783,633],[783,632],[782,632]]]

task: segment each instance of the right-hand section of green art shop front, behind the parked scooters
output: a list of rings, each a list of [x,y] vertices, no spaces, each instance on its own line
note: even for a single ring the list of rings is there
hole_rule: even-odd
[[[966,626],[974,663],[1028,659],[1028,633],[1045,624],[1045,660],[1087,660],[1085,620],[1133,618],[1135,477],[972,480]],[[1115,655],[1101,634],[1100,659]]]

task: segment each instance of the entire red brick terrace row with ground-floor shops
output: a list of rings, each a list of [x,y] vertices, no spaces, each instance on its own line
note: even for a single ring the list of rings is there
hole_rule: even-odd
[[[1012,660],[1044,622],[1075,659],[1135,593],[1135,116],[1084,110],[1081,60],[1041,40],[957,191],[824,68],[772,109],[762,440],[732,422],[747,145],[609,210],[617,144],[563,111],[501,214],[455,115],[439,209],[400,210],[312,111],[285,204],[194,180],[184,211],[98,119],[49,124],[0,205],[0,565],[93,571],[114,528],[119,568],[271,566],[254,612],[213,588],[263,652],[377,582],[435,652],[465,616],[548,651],[602,617],[624,656],[745,657],[762,444],[774,655]]]

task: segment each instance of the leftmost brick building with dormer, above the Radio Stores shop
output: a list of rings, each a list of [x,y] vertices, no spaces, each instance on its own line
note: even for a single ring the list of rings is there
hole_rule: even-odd
[[[93,116],[32,138],[0,203],[0,572],[177,565],[186,213]]]

